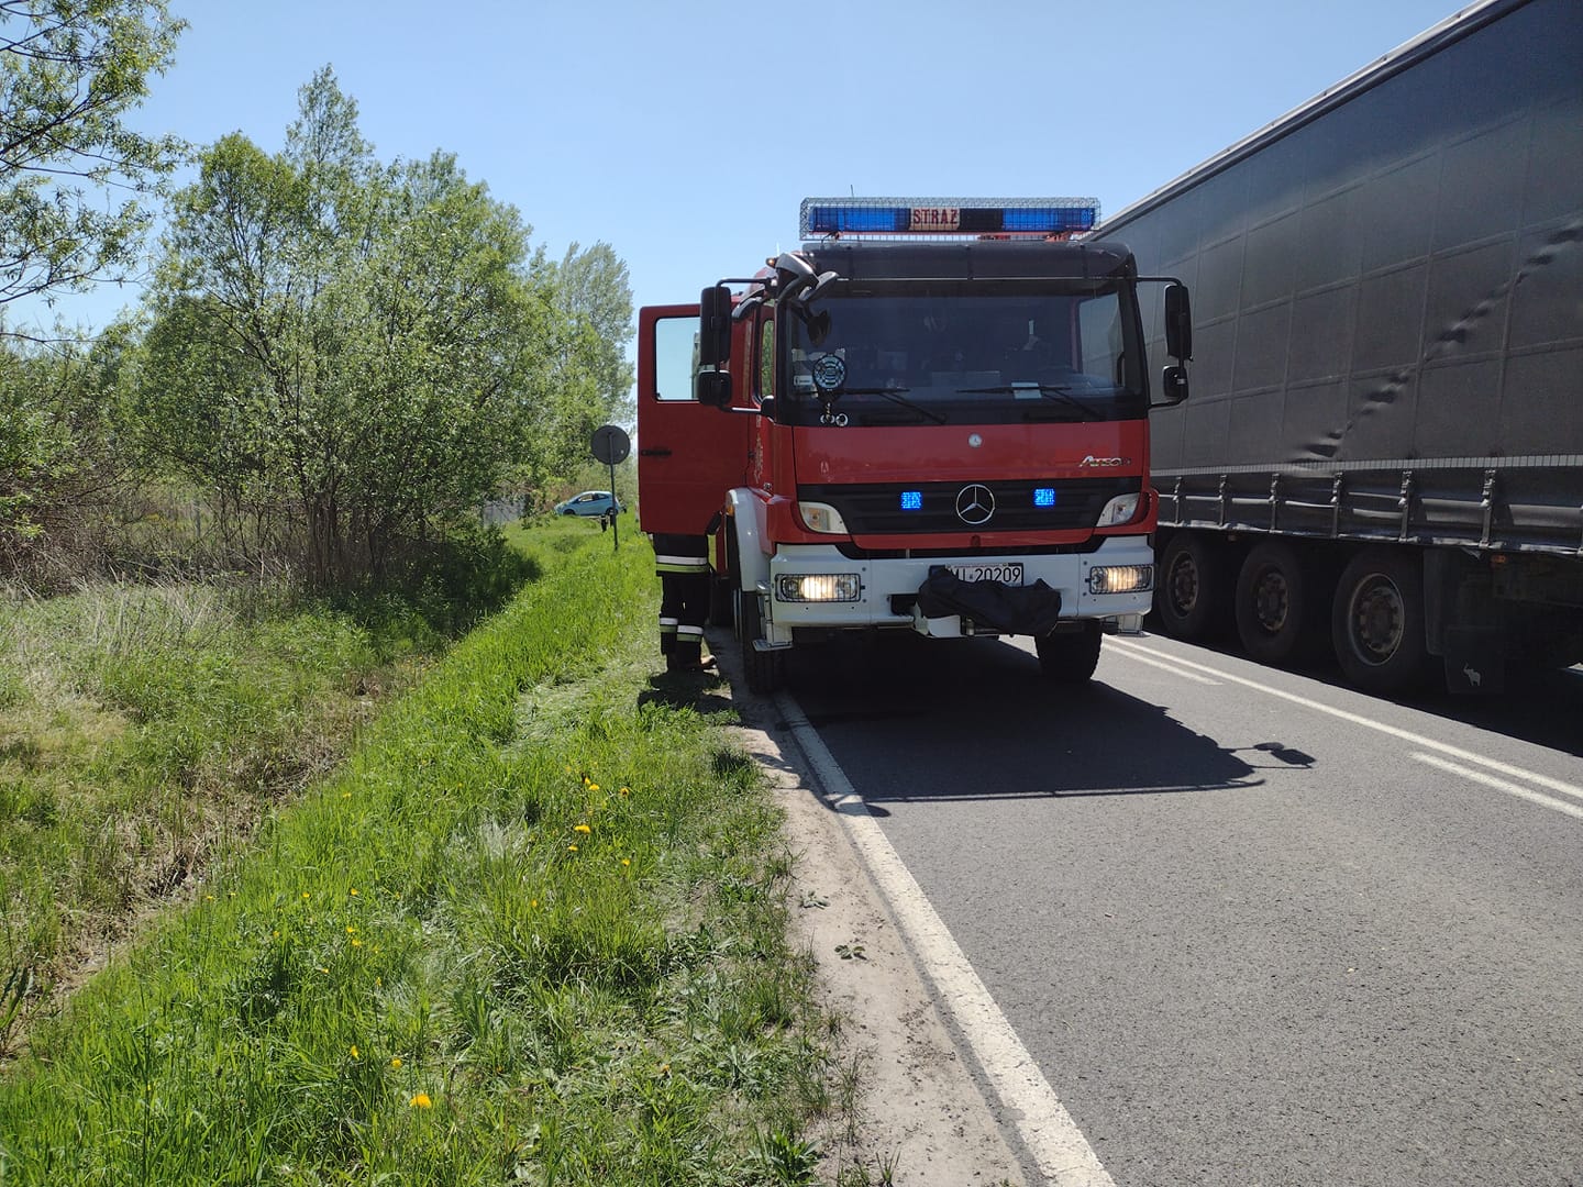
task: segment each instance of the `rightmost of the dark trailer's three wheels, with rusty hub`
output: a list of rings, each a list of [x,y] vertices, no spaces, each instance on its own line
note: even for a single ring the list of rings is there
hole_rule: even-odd
[[[1417,554],[1369,548],[1336,582],[1330,641],[1347,682],[1363,692],[1410,692],[1428,674],[1423,567]]]

